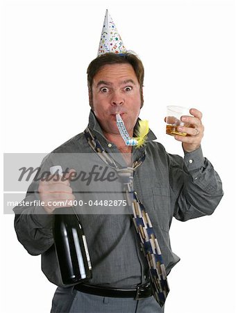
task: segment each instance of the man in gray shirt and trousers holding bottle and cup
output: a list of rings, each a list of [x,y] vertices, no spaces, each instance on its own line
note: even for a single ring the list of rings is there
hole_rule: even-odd
[[[172,217],[188,220],[212,214],[223,195],[217,172],[201,152],[204,130],[201,112],[191,109],[192,116],[182,118],[189,127],[178,127],[189,135],[175,136],[183,145],[184,158],[165,152],[160,143],[154,142],[151,130],[145,145],[135,149],[121,138],[116,114],[119,112],[132,138],[143,105],[144,69],[140,59],[127,52],[102,54],[90,63],[87,78],[92,108],[88,129],[58,147],[54,154],[95,152],[99,156],[103,149],[103,157],[112,159],[114,154],[121,154],[127,168],[131,169],[135,161],[142,159],[140,166],[133,170],[133,186],[150,216],[165,271],[169,274],[179,261],[169,242]],[[96,149],[98,145],[100,150]],[[47,170],[48,159],[44,162]],[[71,172],[72,169],[66,177]],[[37,197],[38,191],[44,206],[15,208],[19,241],[32,255],[42,254],[42,271],[59,286],[51,312],[164,312],[164,306],[151,296],[149,266],[128,214],[80,216],[93,277],[87,284],[69,287],[62,284],[52,232],[53,212],[62,204],[53,206],[51,202],[74,200],[72,185],[63,179],[33,182],[27,200]]]

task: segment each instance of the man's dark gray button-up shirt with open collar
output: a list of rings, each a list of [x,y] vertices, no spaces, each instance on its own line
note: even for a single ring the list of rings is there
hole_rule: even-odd
[[[89,127],[107,152],[113,155],[119,153],[117,147],[103,136],[92,111]],[[203,157],[201,148],[186,153],[182,158],[168,154],[155,139],[153,132],[149,131],[146,145],[133,149],[133,159],[138,159],[146,150],[146,159],[135,171],[134,190],[149,213],[169,273],[180,260],[172,252],[169,239],[173,216],[185,221],[210,215],[219,204],[223,191],[219,175],[210,161]],[[81,133],[53,153],[94,152]],[[51,154],[42,163],[42,167],[47,170],[52,165],[50,159]],[[74,168],[74,164],[71,168]],[[37,198],[37,188],[38,182],[33,182],[25,200],[33,201]],[[79,214],[81,208],[76,209]],[[63,286],[53,245],[53,215],[46,214],[43,207],[39,206],[18,206],[14,211],[19,241],[32,255],[42,255],[44,274],[54,284]],[[90,284],[126,288],[147,279],[148,266],[129,214],[81,214],[80,218],[92,261]]]

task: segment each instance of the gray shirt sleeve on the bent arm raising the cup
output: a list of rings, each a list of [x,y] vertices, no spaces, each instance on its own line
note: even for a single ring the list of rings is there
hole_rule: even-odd
[[[219,175],[203,157],[201,147],[185,153],[182,164],[177,156],[170,159],[175,218],[185,221],[212,214],[224,192]]]

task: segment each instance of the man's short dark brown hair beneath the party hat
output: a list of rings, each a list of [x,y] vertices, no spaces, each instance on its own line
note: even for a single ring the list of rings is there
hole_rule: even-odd
[[[142,61],[140,58],[135,56],[135,54],[126,53],[126,54],[114,54],[114,53],[107,53],[102,54],[95,58],[90,65],[87,67],[87,86],[89,91],[92,95],[92,83],[94,76],[97,72],[103,67],[104,65],[109,64],[130,64],[135,71],[137,81],[140,83],[140,97],[141,97],[141,108],[144,104],[144,95],[143,95],[143,83],[144,83],[144,65],[142,65]],[[90,99],[90,106],[92,107],[92,101]]]

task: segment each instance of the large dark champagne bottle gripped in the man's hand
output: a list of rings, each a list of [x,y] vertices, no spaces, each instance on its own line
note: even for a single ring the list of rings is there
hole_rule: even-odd
[[[62,176],[61,166],[51,174]],[[92,266],[83,227],[73,207],[54,210],[53,237],[63,284],[76,284],[92,278]]]

